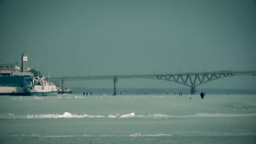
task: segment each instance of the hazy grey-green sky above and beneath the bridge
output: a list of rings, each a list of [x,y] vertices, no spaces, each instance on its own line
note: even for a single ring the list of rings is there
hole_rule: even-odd
[[[51,76],[256,70],[256,0],[0,0],[0,62]],[[111,88],[113,80],[65,82]],[[161,80],[117,87],[186,88]],[[200,88],[256,89],[256,76]]]

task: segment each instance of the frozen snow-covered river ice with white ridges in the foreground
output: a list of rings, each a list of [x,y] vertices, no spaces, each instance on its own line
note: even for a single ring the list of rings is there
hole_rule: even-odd
[[[256,95],[0,96],[0,143],[256,144]]]

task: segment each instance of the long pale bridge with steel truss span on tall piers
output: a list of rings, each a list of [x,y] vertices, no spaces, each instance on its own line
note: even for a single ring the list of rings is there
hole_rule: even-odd
[[[153,75],[102,75],[102,76],[62,76],[51,77],[53,81],[61,81],[61,88],[63,91],[64,81],[66,80],[113,80],[114,82],[114,95],[116,95],[116,83],[118,79],[155,79],[167,80],[182,85],[187,85],[191,88],[191,94],[195,94],[196,87],[213,80],[218,80],[224,77],[233,77],[240,75],[256,75],[256,70],[251,71],[231,71],[222,70],[215,72],[183,72],[183,73],[167,73],[167,74],[153,74]]]

